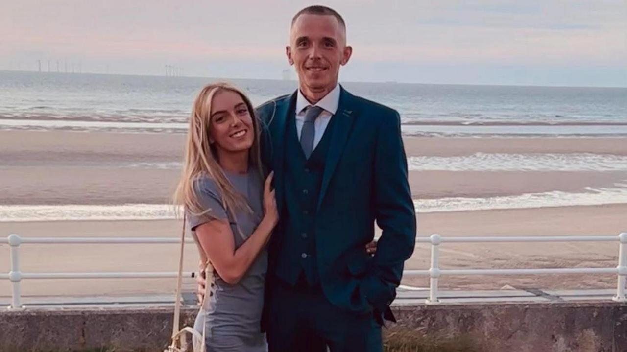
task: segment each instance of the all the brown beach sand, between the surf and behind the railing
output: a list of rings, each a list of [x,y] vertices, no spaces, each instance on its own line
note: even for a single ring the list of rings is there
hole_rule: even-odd
[[[618,138],[404,138],[408,156],[485,153],[608,153],[627,155]],[[167,204],[180,175],[174,168],[137,167],[181,160],[184,135],[82,132],[0,132],[0,204]],[[151,164],[152,165],[152,164]],[[610,186],[624,172],[410,172],[416,199],[493,197]],[[418,214],[418,236],[618,235],[627,231],[627,204]],[[177,237],[180,220],[2,222],[0,236]],[[26,245],[26,272],[176,271],[176,245]],[[187,247],[186,270],[198,265]],[[446,268],[615,267],[617,243],[444,244]],[[428,269],[429,245],[418,244],[406,269]],[[0,245],[0,272],[9,248]],[[191,280],[187,281],[189,284]],[[427,286],[426,277],[404,284]],[[608,288],[612,275],[443,277],[443,288]],[[24,295],[174,292],[174,279],[25,280]],[[11,293],[0,281],[0,296]]]

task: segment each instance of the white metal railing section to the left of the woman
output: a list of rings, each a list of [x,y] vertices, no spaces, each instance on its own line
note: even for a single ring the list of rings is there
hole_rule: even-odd
[[[193,243],[190,238],[186,243]],[[177,277],[178,272],[21,272],[19,270],[19,247],[22,244],[176,244],[181,239],[174,237],[19,237],[11,234],[0,239],[0,243],[11,247],[11,267],[8,274],[0,274],[0,279],[9,279],[12,284],[12,299],[8,309],[24,309],[21,304],[20,283],[23,279],[119,279]],[[192,276],[184,272],[183,276]]]

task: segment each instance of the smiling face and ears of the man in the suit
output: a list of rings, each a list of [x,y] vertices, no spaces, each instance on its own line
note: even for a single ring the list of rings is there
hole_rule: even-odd
[[[292,26],[286,53],[302,89],[328,93],[337,85],[340,65],[349,61],[352,48],[346,46],[345,29],[337,18],[302,14]]]

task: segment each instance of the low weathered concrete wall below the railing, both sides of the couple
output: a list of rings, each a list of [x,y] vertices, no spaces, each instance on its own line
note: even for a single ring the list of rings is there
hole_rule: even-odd
[[[627,306],[617,303],[395,306],[392,331],[453,339],[485,352],[627,352]],[[195,309],[182,319],[192,324]],[[172,309],[2,311],[0,351],[159,351]],[[106,349],[103,349],[105,351]]]

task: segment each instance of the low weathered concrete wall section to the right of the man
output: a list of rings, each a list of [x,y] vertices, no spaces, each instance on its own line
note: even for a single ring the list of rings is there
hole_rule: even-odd
[[[397,307],[398,326],[467,335],[486,352],[627,352],[627,306],[618,303]]]

